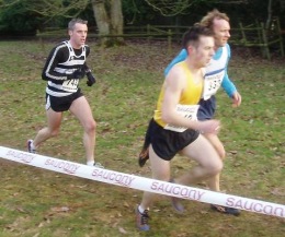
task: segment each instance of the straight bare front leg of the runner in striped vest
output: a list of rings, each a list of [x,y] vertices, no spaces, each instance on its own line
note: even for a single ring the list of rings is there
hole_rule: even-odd
[[[87,162],[94,161],[94,147],[95,147],[95,128],[91,108],[84,96],[77,98],[71,107],[70,111],[79,119],[84,129],[83,145],[86,149]]]

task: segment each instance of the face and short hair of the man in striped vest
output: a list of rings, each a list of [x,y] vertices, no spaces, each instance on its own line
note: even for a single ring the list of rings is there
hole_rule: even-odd
[[[81,48],[86,44],[88,27],[86,24],[76,23],[73,31],[69,31],[70,43],[73,48]]]

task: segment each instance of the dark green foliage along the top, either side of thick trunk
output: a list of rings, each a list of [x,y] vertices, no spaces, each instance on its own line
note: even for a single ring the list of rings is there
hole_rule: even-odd
[[[183,12],[168,16],[162,15],[146,0],[122,0],[125,25],[192,25],[214,8],[227,12],[232,26],[239,22],[244,24],[254,23],[254,21],[266,22],[269,15],[269,1],[186,0],[186,2],[191,4]],[[284,0],[272,0],[272,14],[280,17],[282,27],[285,28]],[[72,16],[87,19],[89,26],[96,26],[91,0],[2,0],[0,1],[0,33],[1,36],[19,36],[33,35],[37,29],[47,26],[65,28]]]

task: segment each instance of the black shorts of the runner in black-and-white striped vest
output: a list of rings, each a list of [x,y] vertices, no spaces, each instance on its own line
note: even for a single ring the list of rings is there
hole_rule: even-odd
[[[62,97],[46,94],[46,110],[52,108],[54,111],[67,111],[72,102],[81,96],[83,96],[83,94],[80,88],[78,88],[76,93]]]

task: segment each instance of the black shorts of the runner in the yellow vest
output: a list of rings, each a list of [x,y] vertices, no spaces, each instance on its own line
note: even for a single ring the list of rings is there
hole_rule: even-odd
[[[156,154],[164,161],[171,161],[178,152],[194,142],[200,132],[193,129],[187,129],[184,132],[170,131],[151,119],[147,134]]]

